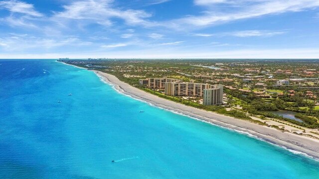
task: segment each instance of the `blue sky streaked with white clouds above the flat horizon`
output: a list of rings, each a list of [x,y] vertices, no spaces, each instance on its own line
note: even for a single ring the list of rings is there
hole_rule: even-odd
[[[319,0],[0,0],[0,58],[319,58]]]

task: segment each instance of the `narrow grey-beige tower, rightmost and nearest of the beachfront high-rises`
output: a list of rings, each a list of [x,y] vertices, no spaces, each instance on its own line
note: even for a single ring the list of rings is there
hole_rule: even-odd
[[[212,85],[210,89],[204,89],[204,105],[217,105],[223,103],[223,86]]]

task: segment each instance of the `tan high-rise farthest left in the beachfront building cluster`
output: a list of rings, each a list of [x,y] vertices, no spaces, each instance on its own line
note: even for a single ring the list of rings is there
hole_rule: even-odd
[[[146,85],[150,89],[165,89],[166,82],[182,82],[182,80],[170,78],[147,78],[140,80],[140,85]]]

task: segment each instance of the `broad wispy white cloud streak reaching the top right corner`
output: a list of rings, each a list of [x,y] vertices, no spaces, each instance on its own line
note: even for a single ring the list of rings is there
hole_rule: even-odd
[[[194,2],[207,8],[203,15],[188,15],[171,20],[168,24],[175,28],[185,24],[208,26],[263,15],[302,11],[319,6],[319,0],[195,0]],[[220,3],[227,3],[232,9],[225,11],[219,6]],[[210,5],[213,5],[213,8]]]

